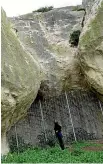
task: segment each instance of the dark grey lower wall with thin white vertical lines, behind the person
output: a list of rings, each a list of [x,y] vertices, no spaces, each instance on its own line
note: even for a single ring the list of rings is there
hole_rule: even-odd
[[[100,102],[95,94],[81,90],[67,93],[69,108],[77,140],[103,138],[103,115]],[[65,93],[51,99],[35,100],[25,119],[19,121],[8,133],[9,144],[18,136],[19,148],[24,143],[32,146],[44,146],[54,141],[54,120],[62,125],[65,144],[74,141],[73,128]],[[16,133],[15,133],[16,127]],[[45,143],[45,138],[47,141]],[[21,149],[20,148],[20,149]],[[15,149],[17,143],[15,142]]]

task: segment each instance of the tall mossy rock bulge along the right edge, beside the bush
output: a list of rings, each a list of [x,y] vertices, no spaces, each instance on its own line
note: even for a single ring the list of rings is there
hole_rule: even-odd
[[[94,1],[86,11],[89,15],[80,37],[79,60],[88,83],[103,96],[103,0]]]

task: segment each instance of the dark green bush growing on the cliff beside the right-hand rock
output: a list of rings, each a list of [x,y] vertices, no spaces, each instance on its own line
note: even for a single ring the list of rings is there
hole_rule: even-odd
[[[71,46],[78,46],[80,33],[80,30],[77,30],[73,31],[73,33],[70,34],[69,43],[71,44]]]

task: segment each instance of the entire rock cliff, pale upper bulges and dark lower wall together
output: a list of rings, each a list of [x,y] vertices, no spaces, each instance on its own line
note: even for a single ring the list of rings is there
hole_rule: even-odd
[[[53,134],[54,118],[62,125],[65,143],[74,139],[65,90],[77,138],[103,137],[103,104],[88,91],[90,87],[103,97],[103,0],[83,5],[86,13],[73,7],[33,12],[10,18],[13,25],[2,11],[3,154],[8,152],[6,131],[26,115],[38,90],[42,102],[36,99],[8,139],[16,133],[16,142],[18,136],[26,144],[41,144]],[[69,43],[74,31],[82,31],[79,49]]]

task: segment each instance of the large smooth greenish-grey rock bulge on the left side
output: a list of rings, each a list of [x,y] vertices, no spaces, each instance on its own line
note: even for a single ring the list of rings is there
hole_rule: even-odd
[[[21,45],[5,12],[1,12],[2,153],[8,151],[6,131],[26,114],[40,87],[38,62]]]

